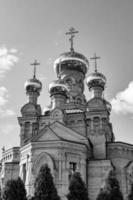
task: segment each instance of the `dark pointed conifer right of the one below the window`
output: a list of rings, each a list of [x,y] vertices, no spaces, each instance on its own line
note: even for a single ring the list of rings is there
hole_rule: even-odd
[[[123,200],[119,182],[114,171],[110,171],[105,187],[100,191],[97,200]]]

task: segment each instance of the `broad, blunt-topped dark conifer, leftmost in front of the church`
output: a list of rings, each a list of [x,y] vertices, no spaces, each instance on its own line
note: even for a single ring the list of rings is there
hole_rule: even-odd
[[[6,182],[2,200],[26,200],[26,190],[21,178]]]

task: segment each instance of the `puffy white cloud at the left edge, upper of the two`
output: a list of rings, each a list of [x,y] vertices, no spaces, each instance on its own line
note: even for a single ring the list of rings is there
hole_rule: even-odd
[[[0,78],[18,62],[16,53],[17,49],[14,48],[7,49],[5,46],[0,48]]]

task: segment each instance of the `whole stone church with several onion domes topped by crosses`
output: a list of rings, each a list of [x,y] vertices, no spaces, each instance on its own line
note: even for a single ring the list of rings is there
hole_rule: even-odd
[[[47,163],[62,199],[68,193],[71,174],[80,172],[88,188],[90,200],[95,200],[100,188],[114,169],[124,199],[133,182],[133,145],[116,142],[110,122],[111,104],[104,98],[106,77],[97,69],[96,54],[93,73],[88,59],[74,50],[74,28],[70,35],[70,50],[54,62],[57,79],[49,84],[51,102],[44,110],[38,104],[42,83],[37,79],[35,60],[33,77],[26,81],[28,102],[18,117],[20,147],[3,148],[0,184],[20,176],[27,195],[34,194],[34,181],[40,167]],[[88,75],[86,75],[88,74]],[[85,84],[90,99],[84,94]]]

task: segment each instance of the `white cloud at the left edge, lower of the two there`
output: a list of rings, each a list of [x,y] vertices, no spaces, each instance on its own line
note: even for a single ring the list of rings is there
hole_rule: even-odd
[[[7,103],[9,101],[8,90],[5,87],[0,87],[0,117],[7,117],[15,115],[12,109],[7,108]]]

